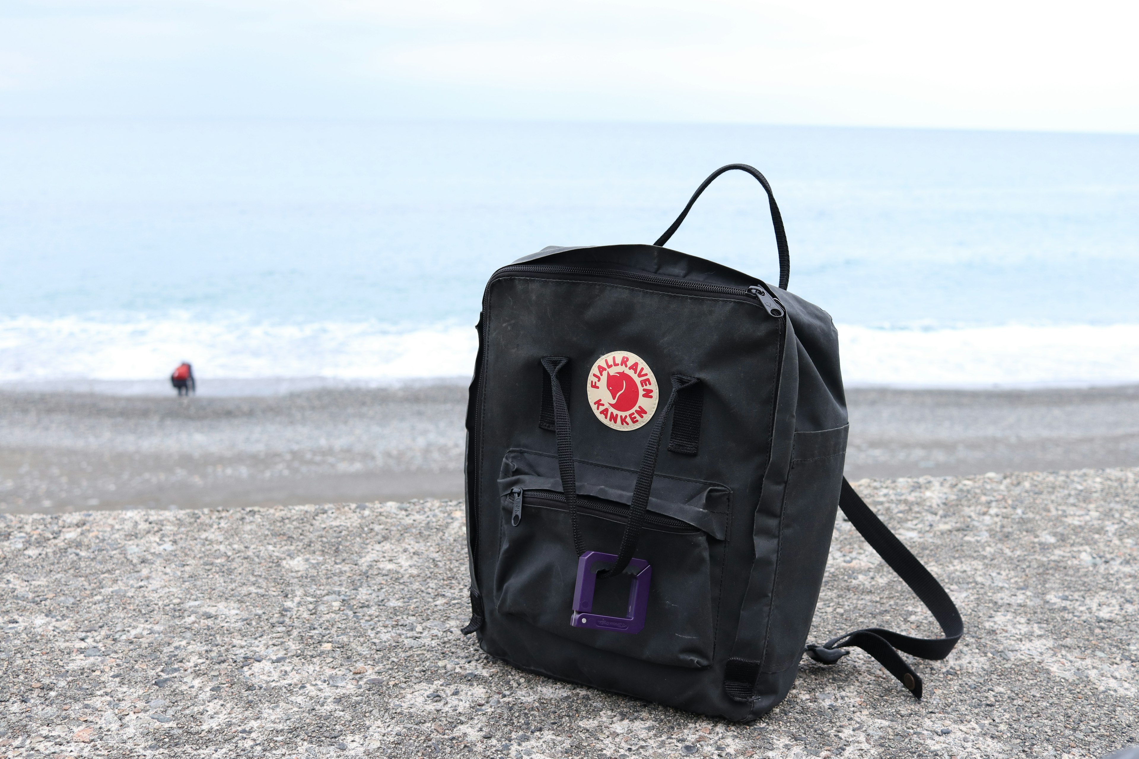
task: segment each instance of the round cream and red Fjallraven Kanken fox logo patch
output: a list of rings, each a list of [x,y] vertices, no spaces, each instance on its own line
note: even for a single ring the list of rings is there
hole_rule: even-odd
[[[633,430],[653,419],[656,378],[640,356],[628,350],[607,353],[593,363],[585,394],[593,414],[615,430]]]

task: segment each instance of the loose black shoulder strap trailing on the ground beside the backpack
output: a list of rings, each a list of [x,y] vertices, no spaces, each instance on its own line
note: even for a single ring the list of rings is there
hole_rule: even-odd
[[[870,547],[877,551],[891,569],[898,572],[898,576],[906,580],[910,589],[921,599],[921,603],[933,613],[945,636],[910,637],[880,627],[867,627],[833,637],[821,645],[809,643],[806,654],[821,663],[833,665],[850,653],[842,649],[857,646],[877,659],[910,693],[920,699],[921,678],[899,655],[898,651],[904,651],[920,659],[944,659],[965,633],[961,614],[957,611],[957,605],[953,604],[953,600],[945,593],[941,583],[870,511],[870,506],[866,505],[866,502],[854,492],[845,477],[843,478],[842,493],[838,496],[838,508],[843,510],[846,519],[866,538]]]

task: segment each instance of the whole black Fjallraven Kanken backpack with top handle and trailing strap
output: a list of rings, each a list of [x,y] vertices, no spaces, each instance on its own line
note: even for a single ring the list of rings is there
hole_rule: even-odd
[[[767,190],[779,287],[662,247],[729,170]],[[549,247],[483,294],[467,406],[470,624],[519,669],[748,720],[805,652],[859,646],[913,695],[898,650],[962,633],[933,576],[843,478],[846,403],[830,316],[787,291],[760,172],[700,184],[654,245]],[[868,628],[804,646],[835,508],[945,637]]]

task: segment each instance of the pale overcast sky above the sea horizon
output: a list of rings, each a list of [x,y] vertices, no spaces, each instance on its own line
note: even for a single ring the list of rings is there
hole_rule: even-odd
[[[1103,0],[6,0],[0,116],[1134,133],[1136,28]]]

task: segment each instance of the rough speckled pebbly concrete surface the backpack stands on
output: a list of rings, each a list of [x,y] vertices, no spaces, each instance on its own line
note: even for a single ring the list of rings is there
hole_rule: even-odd
[[[913,700],[855,651],[734,725],[519,673],[461,504],[0,515],[0,753],[1101,757],[1139,742],[1139,469],[863,480],[967,634]],[[933,634],[839,521],[813,640]]]

